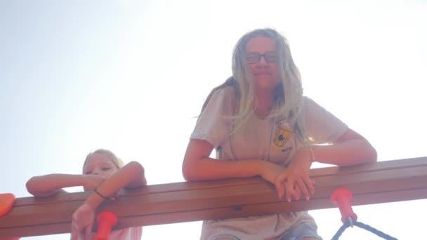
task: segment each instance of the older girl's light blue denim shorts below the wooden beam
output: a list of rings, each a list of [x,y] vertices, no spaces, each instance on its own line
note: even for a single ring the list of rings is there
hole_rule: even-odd
[[[303,237],[314,237],[316,239],[322,240],[322,237],[317,234],[317,226],[313,222],[301,222],[291,227],[291,229],[287,230],[283,236],[281,236],[280,240],[302,240]],[[246,240],[246,239],[238,239],[235,236],[230,234],[220,234],[214,236],[212,240]]]

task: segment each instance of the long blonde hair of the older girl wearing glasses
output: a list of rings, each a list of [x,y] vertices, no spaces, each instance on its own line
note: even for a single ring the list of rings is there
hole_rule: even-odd
[[[298,139],[306,144],[301,75],[292,58],[287,39],[275,29],[255,29],[244,34],[237,41],[232,53],[232,77],[227,79],[224,84],[213,88],[204,102],[202,111],[214,91],[225,86],[233,86],[235,91],[235,115],[232,118],[235,120],[235,124],[232,133],[247,124],[251,115],[254,114],[253,102],[256,95],[254,94],[254,83],[251,81],[252,76],[247,68],[246,46],[248,41],[256,36],[265,36],[271,39],[275,43],[278,55],[277,67],[281,82],[275,88],[273,96],[275,105],[267,117],[286,117],[288,123],[294,128]]]

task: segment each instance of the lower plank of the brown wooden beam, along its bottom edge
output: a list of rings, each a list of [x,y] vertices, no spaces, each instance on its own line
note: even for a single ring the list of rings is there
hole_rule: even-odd
[[[366,204],[377,204],[377,203],[388,203],[393,201],[408,201],[416,199],[426,199],[427,188],[423,189],[409,189],[396,192],[379,192],[376,194],[367,194],[365,196],[355,195],[354,206],[366,205]],[[334,208],[329,201],[329,198],[315,199],[311,201],[295,201],[292,203],[275,203],[275,204],[258,204],[253,206],[244,206],[242,208],[230,207],[230,208],[213,208],[204,209],[199,211],[184,211],[176,213],[163,213],[157,215],[142,215],[142,216],[127,216],[120,218],[119,225],[117,228],[131,227],[138,225],[158,225],[176,222],[191,222],[206,217],[212,219],[237,218],[246,217],[250,215],[256,215],[258,212],[263,211],[265,213],[279,213],[280,211],[287,211],[287,208],[295,210],[300,209],[304,211],[306,209],[322,209],[322,208]],[[40,236],[46,235],[46,227],[49,228],[48,234],[62,234],[70,232],[70,222],[60,222],[48,225],[29,225],[20,227],[10,227],[1,229],[1,235],[4,237],[16,236],[17,232],[21,232],[22,236]]]

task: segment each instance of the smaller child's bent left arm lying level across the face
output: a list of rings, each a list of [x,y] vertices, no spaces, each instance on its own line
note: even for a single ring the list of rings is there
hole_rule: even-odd
[[[53,173],[30,178],[26,187],[33,196],[53,196],[65,192],[63,187],[84,186],[93,189],[104,180],[100,175]]]

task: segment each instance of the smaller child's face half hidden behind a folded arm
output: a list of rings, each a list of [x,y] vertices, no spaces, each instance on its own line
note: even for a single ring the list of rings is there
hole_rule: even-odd
[[[109,178],[119,168],[113,163],[107,154],[94,153],[88,157],[83,168],[83,174],[102,175]]]

